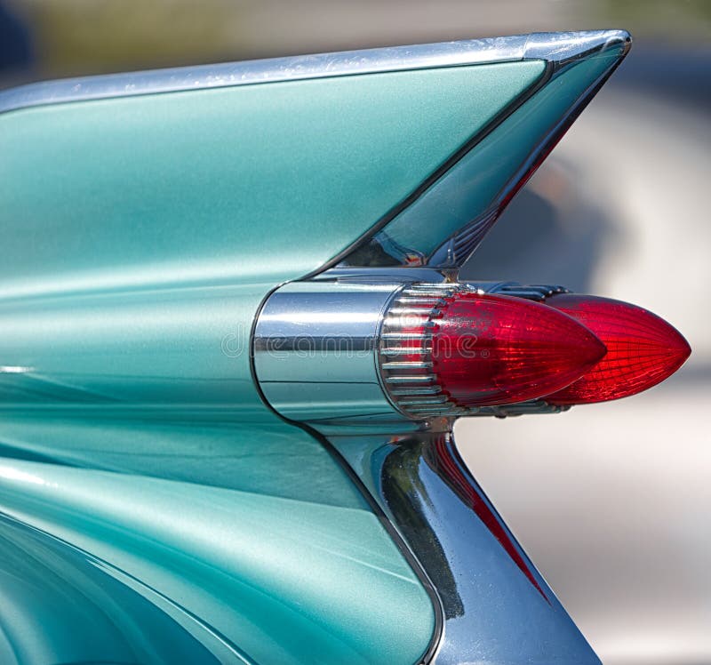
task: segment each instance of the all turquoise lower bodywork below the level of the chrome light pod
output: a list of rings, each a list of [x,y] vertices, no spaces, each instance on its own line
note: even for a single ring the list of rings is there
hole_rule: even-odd
[[[426,649],[427,593],[316,440],[268,419],[63,411],[3,415],[3,663]]]

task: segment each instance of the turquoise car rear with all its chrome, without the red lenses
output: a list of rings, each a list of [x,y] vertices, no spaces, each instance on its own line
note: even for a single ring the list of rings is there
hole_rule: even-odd
[[[451,438],[567,406],[408,389],[383,326],[563,291],[457,271],[628,48],[0,93],[0,662],[597,662]]]

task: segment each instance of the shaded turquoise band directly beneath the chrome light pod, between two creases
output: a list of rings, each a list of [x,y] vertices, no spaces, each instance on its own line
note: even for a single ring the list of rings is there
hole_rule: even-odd
[[[261,421],[206,409],[4,409],[0,453],[5,462],[42,461],[367,509],[323,446],[268,415]]]

